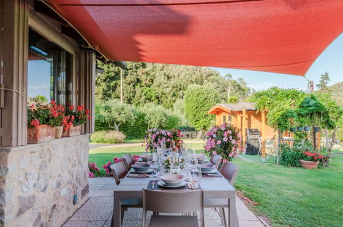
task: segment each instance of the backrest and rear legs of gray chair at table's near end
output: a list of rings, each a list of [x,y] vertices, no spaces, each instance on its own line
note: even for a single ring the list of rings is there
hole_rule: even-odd
[[[143,220],[146,211],[156,213],[190,213],[199,211],[203,225],[203,189],[195,191],[153,191],[143,188]],[[144,218],[145,217],[145,218]],[[143,222],[145,226],[145,222]]]

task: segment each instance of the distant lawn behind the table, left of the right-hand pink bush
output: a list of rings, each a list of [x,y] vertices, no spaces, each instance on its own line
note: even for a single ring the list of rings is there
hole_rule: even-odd
[[[189,144],[188,147],[191,146],[192,149],[202,150],[203,144],[203,142],[197,142]],[[108,161],[113,160],[114,157],[122,157],[125,153],[140,155],[144,152],[145,147],[142,146],[90,149],[89,162],[96,162],[96,165],[99,167],[101,172],[100,175],[105,175],[105,171],[102,169],[102,166]]]

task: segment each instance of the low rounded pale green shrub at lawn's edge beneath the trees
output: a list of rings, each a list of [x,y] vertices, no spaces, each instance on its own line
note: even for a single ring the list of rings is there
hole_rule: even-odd
[[[120,144],[126,136],[120,131],[96,131],[91,135],[91,142],[102,144]]]

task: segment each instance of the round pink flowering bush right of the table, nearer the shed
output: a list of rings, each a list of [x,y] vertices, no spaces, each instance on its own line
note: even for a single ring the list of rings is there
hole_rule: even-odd
[[[223,160],[229,162],[239,155],[241,150],[239,129],[226,124],[214,126],[206,133],[206,137],[205,150],[208,155],[217,153],[221,155]]]

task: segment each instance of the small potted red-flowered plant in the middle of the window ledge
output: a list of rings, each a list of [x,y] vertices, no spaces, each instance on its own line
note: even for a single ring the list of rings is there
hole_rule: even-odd
[[[50,106],[50,125],[55,127],[55,138],[61,138],[63,131],[63,119],[65,116],[65,107],[63,105],[56,105],[54,100],[51,101]]]

